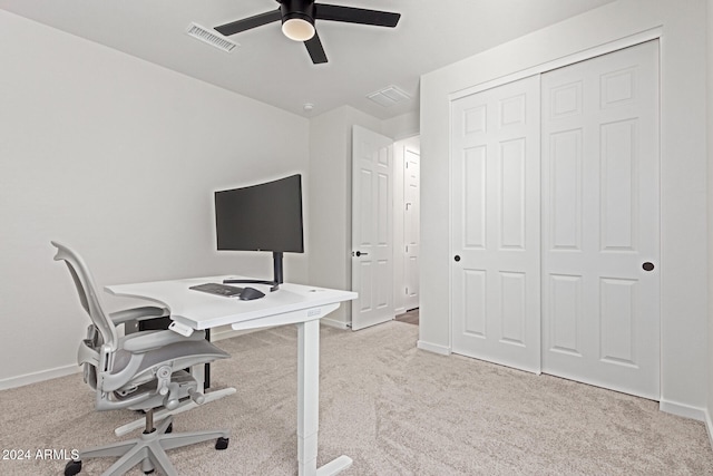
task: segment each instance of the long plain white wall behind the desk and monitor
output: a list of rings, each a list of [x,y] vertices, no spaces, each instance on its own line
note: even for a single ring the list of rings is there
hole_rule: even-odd
[[[267,253],[215,251],[212,193],[306,174],[306,119],[4,11],[0,65],[0,388],[77,368],[88,318],[50,240],[99,286],[272,276]]]

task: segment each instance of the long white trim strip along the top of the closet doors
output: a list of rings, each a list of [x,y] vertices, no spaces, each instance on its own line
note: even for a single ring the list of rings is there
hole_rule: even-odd
[[[588,48],[573,55],[567,55],[565,57],[557,58],[551,61],[543,62],[541,65],[536,65],[530,68],[522,69],[520,71],[516,71],[506,76],[501,76],[496,79],[491,79],[485,82],[480,82],[478,85],[470,86],[465,89],[460,89],[458,91],[453,91],[448,95],[448,100],[452,103],[453,100],[473,95],[476,93],[481,93],[486,89],[496,88],[498,86],[502,86],[508,82],[514,82],[520,79],[525,79],[529,76],[541,75],[544,72],[551,71],[553,69],[563,68],[565,66],[574,65],[575,62],[579,62],[579,61],[585,61],[587,59],[592,59],[597,56],[614,52],[624,48],[633,47],[635,45],[639,45],[645,41],[660,39],[662,36],[663,36],[662,27],[652,28],[649,30],[629,35],[628,37],[619,38],[618,40],[609,41],[604,45]]]

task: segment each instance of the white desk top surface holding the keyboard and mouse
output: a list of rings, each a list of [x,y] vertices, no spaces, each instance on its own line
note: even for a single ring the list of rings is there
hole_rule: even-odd
[[[270,292],[270,286],[263,284],[232,284],[240,288],[255,288],[265,293],[264,298],[252,301],[241,301],[238,298],[226,298],[189,289],[196,284],[222,283],[224,279],[245,278],[235,275],[191,278],[116,284],[108,285],[105,290],[114,295],[141,298],[156,302],[170,310],[172,319],[193,329],[211,329],[218,326],[265,320],[265,318],[277,314],[319,308],[356,298],[356,293],[352,291],[292,283],[280,284],[280,289],[274,292]]]

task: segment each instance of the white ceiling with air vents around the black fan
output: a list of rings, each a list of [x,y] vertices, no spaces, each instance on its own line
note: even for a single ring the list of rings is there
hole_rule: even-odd
[[[418,110],[422,74],[612,1],[325,0],[401,13],[394,29],[318,20],[325,65],[313,65],[279,22],[229,37],[241,45],[229,54],[185,33],[192,22],[212,30],[276,9],[274,0],[0,0],[0,8],[305,117],[350,105],[387,119]],[[412,99],[384,108],[365,98],[390,85]]]

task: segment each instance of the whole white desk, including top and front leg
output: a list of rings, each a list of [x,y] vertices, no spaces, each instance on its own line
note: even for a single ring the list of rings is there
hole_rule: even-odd
[[[175,281],[109,285],[105,290],[115,295],[141,298],[170,310],[180,333],[189,329],[212,329],[231,326],[235,330],[271,326],[297,326],[297,460],[300,476],[335,475],[351,466],[352,460],[340,456],[316,467],[319,395],[320,395],[320,319],[356,298],[351,291],[283,283],[270,292],[260,284],[251,286],[265,292],[254,301],[224,298],[188,288],[207,283],[222,283],[224,279],[242,276],[208,276]],[[172,324],[174,326],[174,324]],[[208,394],[209,395],[209,394]],[[206,395],[206,398],[207,396]]]

